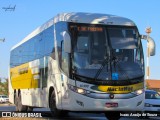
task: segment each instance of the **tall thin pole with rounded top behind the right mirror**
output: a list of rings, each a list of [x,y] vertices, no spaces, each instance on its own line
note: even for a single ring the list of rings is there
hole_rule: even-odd
[[[149,79],[150,76],[150,68],[149,68],[149,60],[150,60],[150,49],[149,49],[149,35],[152,32],[152,28],[151,27],[147,27],[145,32],[147,33],[147,79]]]

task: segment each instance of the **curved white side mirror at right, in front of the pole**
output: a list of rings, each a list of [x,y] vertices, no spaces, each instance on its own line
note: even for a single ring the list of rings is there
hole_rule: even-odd
[[[141,39],[145,39],[147,40],[148,44],[149,44],[149,54],[150,56],[154,56],[155,55],[155,49],[156,49],[156,44],[154,42],[154,40],[151,37],[148,37],[147,35],[141,35]]]

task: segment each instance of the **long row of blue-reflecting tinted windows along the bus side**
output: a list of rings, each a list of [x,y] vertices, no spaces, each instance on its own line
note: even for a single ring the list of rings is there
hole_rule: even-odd
[[[54,49],[53,26],[11,51],[11,67],[49,56]]]

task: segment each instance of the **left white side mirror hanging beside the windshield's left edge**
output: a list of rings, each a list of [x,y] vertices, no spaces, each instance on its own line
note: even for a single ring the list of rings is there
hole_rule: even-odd
[[[68,32],[64,31],[62,33],[64,40],[64,52],[71,53],[71,38]]]

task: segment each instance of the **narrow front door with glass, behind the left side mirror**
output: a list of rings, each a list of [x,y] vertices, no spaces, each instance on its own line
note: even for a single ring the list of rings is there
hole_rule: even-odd
[[[57,63],[59,65],[59,76],[56,78],[60,92],[58,97],[61,97],[62,108],[65,107],[67,102],[67,81],[69,75],[69,54],[64,52],[64,38],[63,32],[68,30],[68,24],[66,22],[58,22],[55,24],[54,36],[55,46],[57,46],[58,55],[56,54]],[[60,78],[60,79],[59,79]]]

